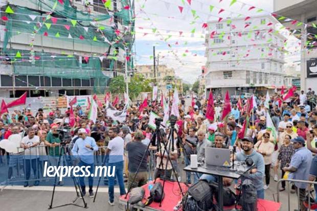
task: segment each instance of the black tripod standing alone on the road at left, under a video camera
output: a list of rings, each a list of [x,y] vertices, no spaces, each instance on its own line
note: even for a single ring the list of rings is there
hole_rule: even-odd
[[[59,153],[58,165],[57,165],[57,166],[60,165],[62,158],[64,158],[64,159],[66,160],[66,165],[67,165],[67,166],[70,166],[69,160],[68,160],[67,157],[65,156],[65,155],[66,155],[66,144],[61,143],[61,147],[62,147],[62,149],[60,150],[60,153]],[[71,157],[71,156],[70,156],[70,157]],[[67,206],[67,205],[74,205],[74,206],[79,206],[79,207],[87,208],[87,203],[85,202],[85,199],[84,199],[84,197],[83,197],[83,195],[82,195],[82,191],[81,191],[81,189],[80,189],[79,181],[74,177],[73,174],[72,174],[72,179],[73,179],[73,181],[74,181],[74,187],[75,187],[75,190],[76,190],[76,198],[72,201],[72,203],[62,204],[62,205],[53,207],[53,200],[54,200],[56,180],[57,180],[57,174],[55,175],[53,193],[52,193],[51,204],[49,205],[49,209],[57,208],[57,207],[62,207],[62,206]],[[81,196],[81,198],[82,198],[82,201],[84,202],[84,206],[80,206],[80,205],[78,205],[78,204],[75,204],[75,202],[76,202],[77,199],[79,198],[78,189],[79,189],[79,193],[80,193],[80,196]]]

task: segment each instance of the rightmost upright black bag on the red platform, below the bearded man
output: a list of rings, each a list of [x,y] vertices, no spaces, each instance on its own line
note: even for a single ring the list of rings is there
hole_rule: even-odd
[[[245,179],[242,182],[239,198],[239,204],[241,204],[243,211],[258,210],[257,189],[250,179]]]

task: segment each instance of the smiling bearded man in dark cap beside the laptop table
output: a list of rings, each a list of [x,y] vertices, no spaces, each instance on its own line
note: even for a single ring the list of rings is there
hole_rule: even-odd
[[[244,174],[241,177],[242,182],[244,179],[251,179],[257,189],[258,198],[264,199],[264,158],[260,153],[253,149],[253,138],[243,137],[241,142],[242,151],[236,154],[236,160],[245,161],[246,158],[251,158],[254,163],[254,168],[250,173]]]

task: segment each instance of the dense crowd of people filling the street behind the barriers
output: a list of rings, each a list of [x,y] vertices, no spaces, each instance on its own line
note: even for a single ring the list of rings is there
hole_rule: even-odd
[[[231,98],[231,112],[227,118],[221,120],[224,100],[221,95],[214,100],[214,120],[206,118],[208,110],[208,99],[196,99],[190,106],[186,106],[185,98],[179,101],[179,116],[174,131],[174,150],[170,147],[169,133],[171,128],[161,128],[162,142],[160,147],[152,146],[151,138],[153,128],[149,125],[150,112],[153,111],[161,118],[164,110],[160,101],[148,102],[148,106],[139,108],[139,102],[128,108],[124,122],[114,121],[106,113],[106,108],[98,109],[96,122],[89,120],[88,111],[80,106],[74,107],[75,125],[71,127],[73,155],[80,156],[79,166],[94,166],[93,159],[87,159],[85,155],[109,155],[108,163],[116,166],[115,177],[120,186],[120,195],[126,193],[124,177],[127,179],[127,190],[132,187],[142,186],[149,178],[148,159],[151,155],[147,151],[154,151],[153,157],[156,160],[154,177],[175,177],[179,179],[179,171],[174,168],[190,164],[190,155],[197,154],[198,161],[205,159],[205,148],[230,148],[235,147],[236,160],[245,160],[246,157],[253,159],[255,168],[250,174],[244,176],[251,179],[257,189],[258,198],[264,198],[265,190],[269,189],[270,180],[273,178],[289,178],[298,180],[315,181],[317,177],[317,108],[314,91],[307,93],[301,91],[292,97],[282,100],[280,93],[275,92],[269,96],[268,107],[265,106],[266,97],[264,94],[254,95],[257,107],[252,114],[246,113],[241,106],[247,103],[247,98],[241,95],[239,99]],[[116,108],[124,109],[124,103],[119,103]],[[267,127],[267,114],[277,131]],[[249,121],[245,134],[241,137],[241,130],[245,121]],[[11,135],[22,136],[21,148],[30,155],[48,155],[52,163],[57,163],[61,153],[61,139],[58,135],[61,127],[70,127],[70,108],[62,112],[62,109],[55,107],[49,112],[39,108],[37,112],[31,109],[14,110],[4,113],[0,120],[0,140],[10,139]],[[35,148],[42,147],[41,152]],[[183,148],[184,147],[184,148]],[[29,149],[29,150],[27,150]],[[33,150],[34,149],[34,150]],[[159,150],[160,149],[160,150]],[[167,153],[164,153],[167,152]],[[146,154],[145,154],[146,153]],[[7,157],[9,165],[8,179],[13,178],[13,168],[17,160],[9,156],[4,149],[1,149],[0,162]],[[52,158],[51,158],[52,157]],[[27,158],[26,158],[27,159]],[[39,178],[36,165],[40,160],[38,157],[30,157],[26,160],[25,186],[30,183],[31,168],[35,177]],[[139,166],[140,165],[140,166]],[[272,169],[272,170],[271,170]],[[138,170],[138,171],[137,171]],[[280,171],[279,171],[280,170]],[[93,170],[91,170],[93,172]],[[280,174],[280,177],[278,176]],[[114,205],[115,177],[108,178],[109,204]],[[193,177],[193,178],[192,178]],[[88,178],[89,196],[93,197],[93,177]],[[217,178],[211,175],[192,175],[186,172],[184,182],[191,184],[199,179],[216,181]],[[243,177],[242,177],[243,180]],[[38,185],[35,180],[34,185]],[[62,182],[60,182],[62,184]],[[237,181],[223,178],[226,186],[235,185]],[[86,194],[85,182],[80,180],[83,195]],[[306,189],[310,185],[303,182],[292,184],[292,193],[299,192],[301,210],[306,210],[303,201],[306,196]],[[314,186],[317,191],[317,185]],[[285,191],[285,182],[281,182],[280,191]]]

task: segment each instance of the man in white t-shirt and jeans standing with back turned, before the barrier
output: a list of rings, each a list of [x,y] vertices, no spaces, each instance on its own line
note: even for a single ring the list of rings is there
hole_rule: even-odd
[[[120,129],[118,127],[112,127],[109,129],[109,136],[112,138],[109,141],[106,149],[106,154],[109,156],[108,166],[115,168],[115,176],[108,177],[109,179],[109,201],[110,206],[114,206],[114,189],[115,189],[115,177],[118,179],[120,187],[120,195],[126,194],[123,181],[123,153],[124,153],[124,140],[118,136]]]

